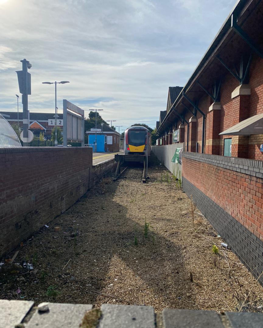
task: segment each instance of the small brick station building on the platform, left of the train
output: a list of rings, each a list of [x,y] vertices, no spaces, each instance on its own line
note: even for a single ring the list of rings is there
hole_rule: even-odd
[[[94,126],[95,128],[95,126]],[[101,126],[97,125],[97,128],[101,128]],[[86,134],[89,136],[94,136],[95,132],[87,130]],[[109,127],[107,124],[104,124],[101,131],[97,132],[97,135],[104,135],[104,151],[107,152],[118,152],[120,149],[120,133]],[[92,141],[94,137],[92,138]],[[91,138],[89,138],[89,143]],[[99,142],[99,139],[97,140]]]

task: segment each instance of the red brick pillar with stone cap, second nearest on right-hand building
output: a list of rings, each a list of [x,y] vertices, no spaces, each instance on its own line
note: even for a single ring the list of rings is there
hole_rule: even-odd
[[[209,107],[206,117],[206,128],[208,140],[206,140],[207,147],[205,148],[206,154],[219,155],[219,133],[220,133],[220,114],[221,103],[214,102]]]

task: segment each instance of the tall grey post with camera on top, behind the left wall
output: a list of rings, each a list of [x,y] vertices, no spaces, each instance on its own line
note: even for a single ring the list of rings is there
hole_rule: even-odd
[[[29,119],[28,119],[28,74],[27,74],[27,65],[29,61],[25,58],[20,60],[22,63],[22,74],[23,74],[23,94],[22,94],[22,103],[23,103],[23,137],[28,138],[28,128],[29,128]],[[23,146],[27,147],[28,142],[23,142]]]

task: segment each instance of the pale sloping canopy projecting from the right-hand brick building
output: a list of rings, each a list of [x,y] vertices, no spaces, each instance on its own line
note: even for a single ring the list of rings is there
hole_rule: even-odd
[[[263,133],[263,114],[258,114],[237,123],[219,135],[251,135]]]

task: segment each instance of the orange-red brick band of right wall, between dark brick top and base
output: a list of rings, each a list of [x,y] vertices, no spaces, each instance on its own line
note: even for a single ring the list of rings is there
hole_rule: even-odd
[[[262,178],[184,157],[182,171],[185,179],[263,240]]]

